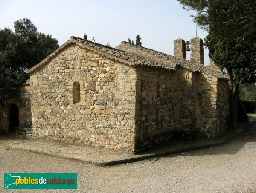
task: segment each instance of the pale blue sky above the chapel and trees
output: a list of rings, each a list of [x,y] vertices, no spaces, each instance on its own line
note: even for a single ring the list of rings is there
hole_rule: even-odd
[[[176,0],[0,0],[0,29],[13,29],[14,21],[27,17],[59,45],[86,32],[88,40],[95,36],[97,43],[116,47],[140,34],[142,46],[173,55],[173,40],[196,36],[190,14]],[[197,32],[202,39],[207,35]]]

